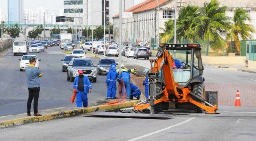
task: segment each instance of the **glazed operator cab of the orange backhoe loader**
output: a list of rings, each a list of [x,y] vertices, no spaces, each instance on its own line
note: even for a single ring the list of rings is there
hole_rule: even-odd
[[[184,65],[182,69],[173,69],[179,87],[189,87],[191,83],[204,81],[200,44],[160,44],[161,47],[162,52],[168,50],[173,60],[178,59]]]

